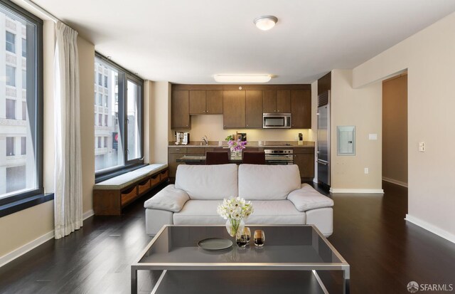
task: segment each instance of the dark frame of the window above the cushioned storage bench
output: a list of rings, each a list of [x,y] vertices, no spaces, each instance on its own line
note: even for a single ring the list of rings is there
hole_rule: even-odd
[[[109,179],[111,177],[115,177],[119,174],[124,172],[128,172],[129,170],[135,169],[144,165],[144,80],[139,78],[134,73],[130,72],[129,70],[123,68],[121,65],[112,62],[110,59],[102,56],[100,53],[95,51],[95,61],[99,59],[103,63],[107,63],[110,67],[117,70],[117,86],[118,90],[117,93],[122,93],[122,97],[118,96],[118,123],[119,123],[119,132],[121,134],[122,146],[123,146],[123,159],[124,164],[120,166],[110,167],[107,169],[102,169],[100,171],[95,171],[95,182],[101,182],[102,180]],[[94,61],[94,62],[95,62]],[[141,150],[141,157],[128,160],[127,154],[127,81],[131,80],[133,83],[136,83],[138,86],[138,95],[139,95],[139,105],[137,110],[137,115],[139,115],[139,136],[140,136],[140,150]],[[122,118],[122,121],[120,118]],[[117,117],[116,117],[117,120]]]

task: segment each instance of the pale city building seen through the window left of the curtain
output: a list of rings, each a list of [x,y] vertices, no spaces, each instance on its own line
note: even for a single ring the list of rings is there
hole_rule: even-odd
[[[27,104],[27,22],[0,11],[0,198],[36,187]],[[32,101],[33,100],[33,101]],[[34,117],[34,115],[33,115]]]

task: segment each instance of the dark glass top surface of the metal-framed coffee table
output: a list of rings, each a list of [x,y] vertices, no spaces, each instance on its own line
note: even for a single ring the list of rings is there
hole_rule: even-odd
[[[225,226],[164,226],[141,254],[137,266],[146,268],[213,269],[342,269],[348,263],[321,233],[310,225],[248,226],[265,232],[265,245],[250,240],[239,248]],[[198,247],[205,238],[227,238],[231,248],[206,251]]]

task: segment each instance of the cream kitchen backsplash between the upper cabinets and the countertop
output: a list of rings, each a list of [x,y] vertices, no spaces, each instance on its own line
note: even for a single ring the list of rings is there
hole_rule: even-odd
[[[296,136],[301,132],[304,135],[304,141],[314,141],[315,135],[312,130],[262,130],[262,129],[233,129],[223,130],[223,115],[192,115],[191,116],[191,130],[176,130],[183,132],[190,132],[191,141],[200,140],[203,135],[207,135],[208,140],[218,141],[225,140],[228,135],[235,134],[235,132],[246,132],[247,140],[250,141],[294,141]],[[169,137],[169,141],[175,138]]]

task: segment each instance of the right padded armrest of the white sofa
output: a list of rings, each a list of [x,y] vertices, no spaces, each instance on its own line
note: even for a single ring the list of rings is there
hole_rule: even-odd
[[[298,211],[320,209],[333,206],[333,200],[319,193],[310,185],[302,185],[301,189],[291,191],[287,196]]]

